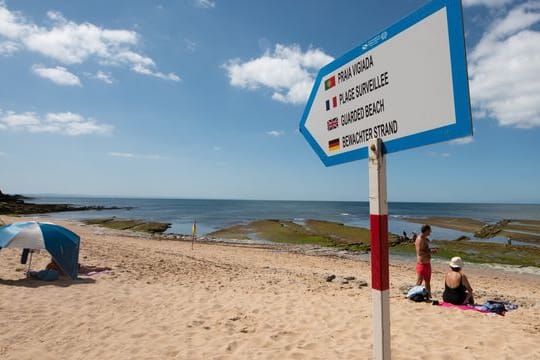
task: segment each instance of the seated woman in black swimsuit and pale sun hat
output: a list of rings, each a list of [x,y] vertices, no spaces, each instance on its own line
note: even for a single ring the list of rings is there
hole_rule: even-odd
[[[443,300],[454,305],[474,304],[472,287],[467,276],[461,273],[463,260],[453,257],[449,265],[451,271],[444,275]]]

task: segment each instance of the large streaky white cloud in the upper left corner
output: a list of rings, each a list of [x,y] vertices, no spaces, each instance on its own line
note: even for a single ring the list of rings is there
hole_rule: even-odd
[[[139,74],[179,81],[174,74],[157,71],[155,62],[136,52],[139,35],[132,30],[106,29],[76,23],[59,12],[49,11],[49,27],[38,26],[0,2],[0,40],[24,47],[63,64],[80,64],[91,59],[104,65],[124,65]],[[13,49],[13,46],[10,46]]]

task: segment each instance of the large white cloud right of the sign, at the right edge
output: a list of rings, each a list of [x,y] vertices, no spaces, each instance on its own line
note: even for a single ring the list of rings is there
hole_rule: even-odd
[[[540,2],[527,2],[496,19],[469,56],[475,115],[502,126],[540,126]]]

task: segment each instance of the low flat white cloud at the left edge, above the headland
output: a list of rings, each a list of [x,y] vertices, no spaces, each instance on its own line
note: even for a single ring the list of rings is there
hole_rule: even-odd
[[[0,110],[0,130],[79,136],[107,135],[113,131],[113,127],[71,112],[48,113],[42,117],[34,112],[3,113]]]

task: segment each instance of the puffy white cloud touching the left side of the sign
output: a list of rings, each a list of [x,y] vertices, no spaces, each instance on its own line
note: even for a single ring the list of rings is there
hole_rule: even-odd
[[[232,86],[250,90],[267,87],[274,91],[274,100],[300,104],[307,101],[318,70],[332,60],[320,49],[302,52],[297,45],[277,44],[273,53],[267,51],[246,62],[229,60],[223,67]]]

